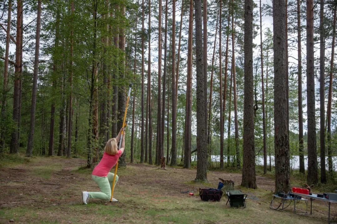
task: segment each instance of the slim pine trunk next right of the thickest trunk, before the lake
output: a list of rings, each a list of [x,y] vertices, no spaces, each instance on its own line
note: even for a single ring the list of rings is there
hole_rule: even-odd
[[[298,123],[300,173],[305,174],[303,143],[303,105],[302,105],[302,47],[301,47],[301,3],[297,0],[297,54],[298,54]]]

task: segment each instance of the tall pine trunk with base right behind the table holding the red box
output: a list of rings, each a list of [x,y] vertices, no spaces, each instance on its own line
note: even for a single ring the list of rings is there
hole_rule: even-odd
[[[307,1],[307,115],[308,115],[308,184],[318,182],[315,119],[315,76],[314,76],[314,4]]]

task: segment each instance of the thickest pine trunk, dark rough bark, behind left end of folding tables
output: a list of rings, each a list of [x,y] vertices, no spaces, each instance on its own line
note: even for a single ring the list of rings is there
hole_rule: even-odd
[[[274,1],[275,192],[288,192],[290,190],[290,152],[288,148],[285,71],[285,15],[285,1]]]

